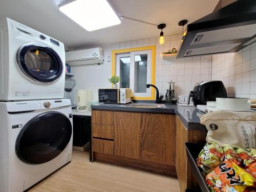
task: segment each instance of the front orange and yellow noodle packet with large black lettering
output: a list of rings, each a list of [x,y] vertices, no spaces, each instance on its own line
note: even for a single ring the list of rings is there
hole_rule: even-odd
[[[255,191],[256,179],[239,167],[232,159],[226,159],[209,173],[205,181],[211,191]]]

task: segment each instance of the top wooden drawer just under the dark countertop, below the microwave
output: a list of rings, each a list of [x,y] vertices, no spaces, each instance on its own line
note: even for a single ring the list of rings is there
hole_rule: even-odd
[[[93,110],[92,123],[113,125],[113,111]]]

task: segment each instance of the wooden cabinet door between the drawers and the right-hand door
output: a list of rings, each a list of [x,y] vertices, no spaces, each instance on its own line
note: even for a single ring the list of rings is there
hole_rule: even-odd
[[[114,155],[141,159],[140,113],[114,112]]]

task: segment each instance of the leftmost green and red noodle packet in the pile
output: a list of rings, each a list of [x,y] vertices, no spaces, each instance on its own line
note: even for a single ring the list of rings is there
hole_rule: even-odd
[[[223,161],[223,157],[223,150],[218,143],[207,142],[198,155],[197,165],[207,174]]]

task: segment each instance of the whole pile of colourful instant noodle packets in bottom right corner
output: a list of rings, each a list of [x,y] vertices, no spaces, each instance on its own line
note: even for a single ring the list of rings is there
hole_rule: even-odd
[[[199,153],[197,164],[206,174],[211,191],[256,191],[256,159],[254,149],[207,142]]]

